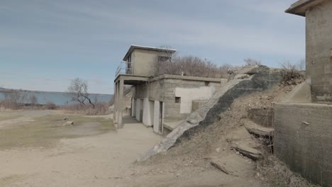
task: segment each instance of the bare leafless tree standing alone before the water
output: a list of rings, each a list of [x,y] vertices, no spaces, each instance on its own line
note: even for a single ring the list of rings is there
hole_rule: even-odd
[[[95,105],[89,97],[88,87],[88,82],[86,80],[76,78],[70,81],[68,93],[70,94],[72,101],[78,102],[82,106],[86,106],[85,101],[89,101],[89,104],[94,108]]]

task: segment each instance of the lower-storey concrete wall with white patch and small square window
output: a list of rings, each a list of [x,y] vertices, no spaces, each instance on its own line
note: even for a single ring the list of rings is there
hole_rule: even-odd
[[[174,77],[174,78],[170,78]],[[135,98],[145,99],[149,101],[161,101],[164,103],[164,115],[163,119],[167,122],[173,122],[178,120],[184,120],[192,113],[192,101],[206,100],[211,98],[216,90],[220,89],[226,84],[225,81],[220,79],[211,81],[213,79],[207,78],[206,80],[200,80],[199,77],[187,78],[179,76],[163,77],[160,79],[153,79],[148,83],[138,84],[135,86]],[[186,79],[187,78],[187,79]],[[210,81],[207,81],[210,80]],[[180,97],[181,102],[175,103],[175,97]],[[145,112],[143,123],[145,125],[152,125],[148,121],[150,118],[150,106],[145,104]],[[137,115],[136,115],[137,117]]]

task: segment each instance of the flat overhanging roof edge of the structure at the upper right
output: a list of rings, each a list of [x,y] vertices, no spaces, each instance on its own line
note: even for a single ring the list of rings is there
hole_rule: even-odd
[[[299,0],[292,4],[285,12],[298,16],[306,16],[306,10],[326,0]]]

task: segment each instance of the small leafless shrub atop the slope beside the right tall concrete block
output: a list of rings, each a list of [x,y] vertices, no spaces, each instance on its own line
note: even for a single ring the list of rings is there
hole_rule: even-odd
[[[304,60],[301,60],[298,64],[292,64],[289,61],[280,63],[282,67],[282,83],[283,84],[299,84],[304,81],[304,72],[299,70],[303,68]]]

